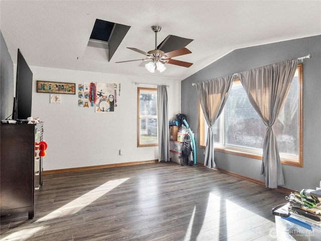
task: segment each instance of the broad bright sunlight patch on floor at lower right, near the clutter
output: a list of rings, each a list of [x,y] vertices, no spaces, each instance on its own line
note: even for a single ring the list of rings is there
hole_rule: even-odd
[[[270,220],[251,211],[251,206],[241,206],[234,200],[222,199],[210,193],[205,213],[201,208],[194,207],[184,241],[189,240],[220,240],[222,238],[237,238],[240,235],[250,235],[258,238],[260,235],[252,232],[262,223],[268,224]],[[202,225],[197,228],[195,225]],[[193,226],[194,225],[194,226]],[[196,238],[196,239],[195,239]],[[246,237],[247,238],[247,237]],[[246,238],[244,240],[246,240]],[[240,239],[241,240],[241,239]]]

